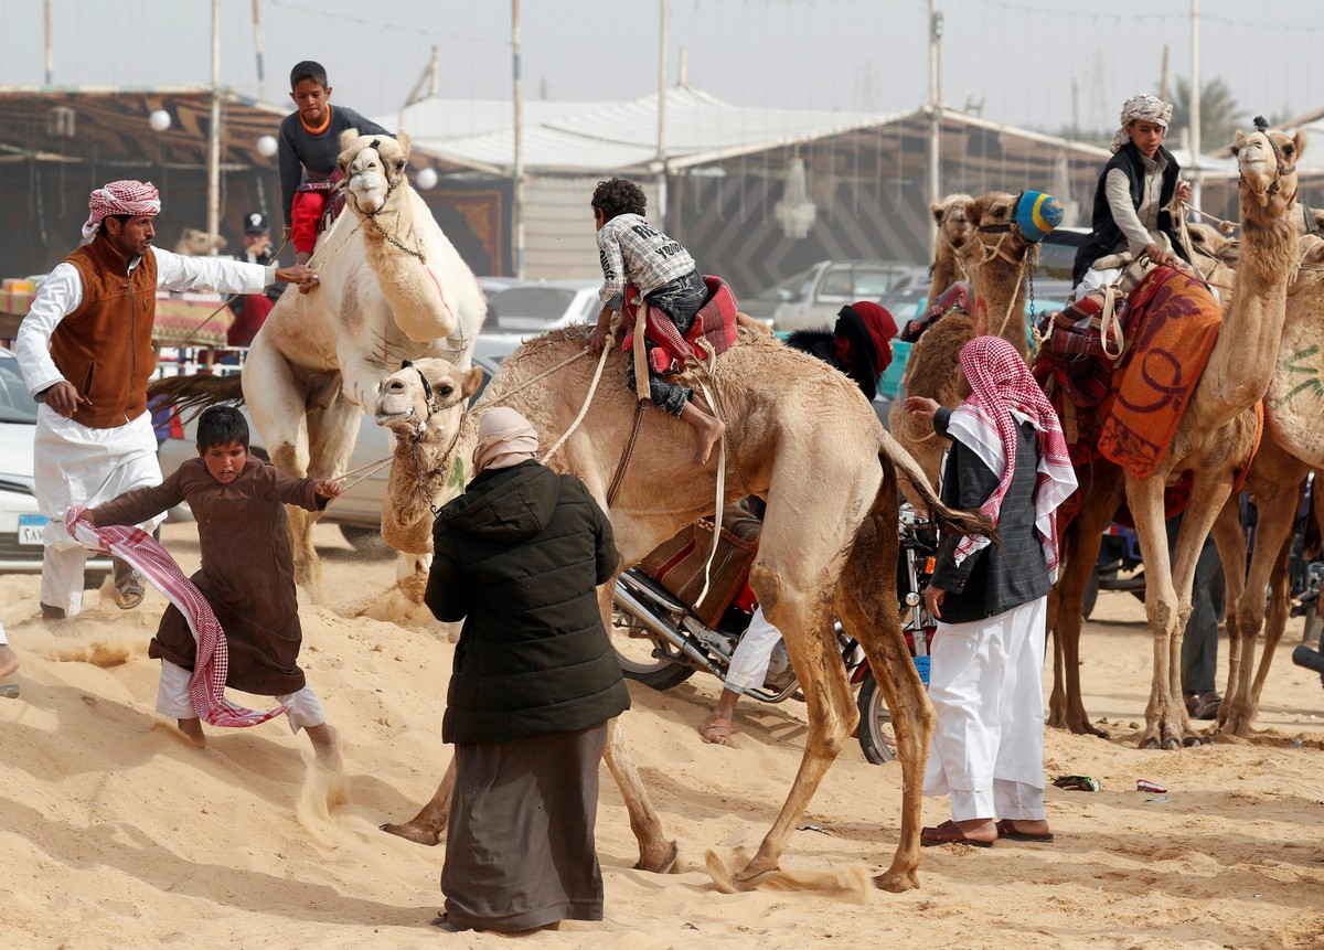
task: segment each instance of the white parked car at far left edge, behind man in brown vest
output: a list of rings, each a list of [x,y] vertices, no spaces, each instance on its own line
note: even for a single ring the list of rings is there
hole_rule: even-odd
[[[49,519],[37,507],[36,437],[37,404],[28,396],[17,357],[0,348],[0,573],[41,572],[41,537]],[[99,586],[109,572],[109,558],[90,558],[83,583]]]

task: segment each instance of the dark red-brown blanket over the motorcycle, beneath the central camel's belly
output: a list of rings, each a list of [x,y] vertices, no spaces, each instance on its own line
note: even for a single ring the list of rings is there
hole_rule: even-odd
[[[695,603],[695,599],[703,590],[703,574],[712,550],[714,524],[708,519],[687,524],[670,541],[658,545],[639,566],[683,603],[691,605],[695,617],[715,627],[744,589],[749,568],[759,553],[761,527],[763,523],[739,504],[727,505],[722,511],[718,553],[712,558],[712,581],[700,603]]]

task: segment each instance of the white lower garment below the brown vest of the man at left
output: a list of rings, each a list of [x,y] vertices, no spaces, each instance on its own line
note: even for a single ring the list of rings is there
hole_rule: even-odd
[[[41,513],[50,519],[42,537],[41,602],[73,617],[82,610],[87,552],[65,531],[65,512],[75,504],[91,508],[130,488],[162,483],[152,414],[143,413],[115,429],[89,429],[41,404],[33,480]],[[152,531],[160,523],[162,517],[155,517],[139,527]]]

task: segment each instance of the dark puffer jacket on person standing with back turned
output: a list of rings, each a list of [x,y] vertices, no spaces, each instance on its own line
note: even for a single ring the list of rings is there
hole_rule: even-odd
[[[465,619],[444,741],[577,732],[630,708],[594,590],[620,554],[577,478],[532,460],[487,470],[441,509],[433,545],[426,603]]]

